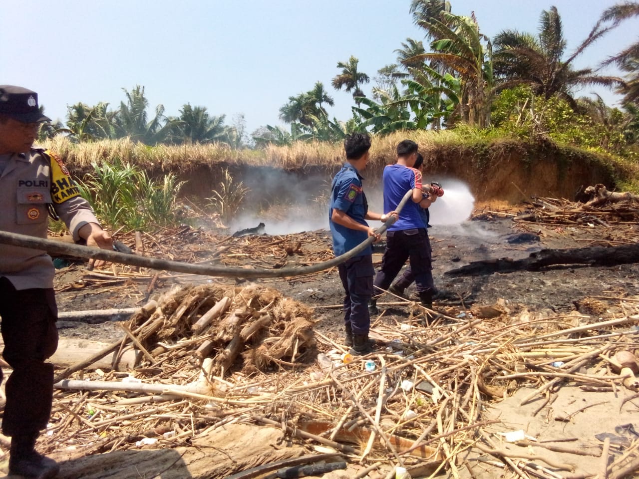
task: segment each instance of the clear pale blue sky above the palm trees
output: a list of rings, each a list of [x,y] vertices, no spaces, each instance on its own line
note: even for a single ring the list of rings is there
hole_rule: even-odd
[[[568,49],[583,40],[612,0],[451,0],[452,11],[475,11],[482,33],[536,33],[541,10],[557,6]],[[394,63],[407,37],[422,40],[410,0],[21,0],[0,17],[0,84],[34,89],[51,118],[66,105],[117,108],[122,88],[145,87],[151,109],[178,115],[187,102],[227,124],[243,113],[247,131],[279,125],[288,97],[323,82],[335,100],[329,114],[350,118],[350,94],[335,91],[337,61],[354,55],[371,79]],[[639,21],[622,24],[579,57],[595,66],[636,41]],[[370,86],[374,85],[371,80]],[[369,87],[365,91],[369,91]],[[588,91],[582,92],[584,95]],[[616,98],[602,93],[609,104]]]

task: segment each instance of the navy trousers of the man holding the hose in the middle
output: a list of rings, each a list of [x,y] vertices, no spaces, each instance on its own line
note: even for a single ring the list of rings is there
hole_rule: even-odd
[[[368,334],[371,316],[368,302],[373,297],[373,256],[356,256],[337,266],[344,286],[344,324],[351,324],[353,334]]]

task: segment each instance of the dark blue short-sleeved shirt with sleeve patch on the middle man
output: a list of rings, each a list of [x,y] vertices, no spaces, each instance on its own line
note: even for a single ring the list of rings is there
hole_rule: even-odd
[[[364,217],[368,212],[368,202],[362,189],[362,176],[350,163],[346,163],[337,172],[330,187],[330,208],[328,209],[328,222],[330,232],[333,234],[333,251],[335,256],[343,255],[352,250],[357,245],[366,241],[368,233],[357,229],[350,229],[343,225],[338,225],[331,218],[333,209],[344,211],[346,215],[353,218],[362,225],[368,226]],[[373,248],[367,247],[358,256],[373,254]]]

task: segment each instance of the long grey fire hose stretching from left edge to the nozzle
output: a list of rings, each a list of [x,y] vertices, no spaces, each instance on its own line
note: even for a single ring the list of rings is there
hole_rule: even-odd
[[[399,213],[404,204],[411,197],[412,190],[406,192],[402,200],[397,205],[395,211]],[[385,232],[390,225],[394,223],[394,218],[390,217],[386,222],[376,230],[379,234]],[[217,276],[226,278],[283,278],[309,275],[318,273],[319,271],[328,270],[338,264],[343,263],[347,259],[359,254],[366,249],[374,238],[370,236],[362,241],[355,248],[347,251],[343,255],[339,255],[328,261],[323,261],[313,266],[303,266],[301,268],[281,268],[279,270],[253,269],[246,268],[229,268],[226,266],[206,266],[203,264],[189,264],[180,261],[169,261],[166,259],[150,258],[137,256],[132,254],[120,253],[110,250],[102,250],[99,248],[86,247],[82,245],[70,245],[61,243],[54,239],[35,238],[25,234],[17,234],[8,231],[0,231],[0,244],[12,245],[22,248],[31,248],[34,250],[42,250],[50,255],[68,255],[86,259],[102,259],[104,261],[128,264],[130,266],[140,266],[141,268],[150,268],[151,270],[174,271],[176,273],[190,273],[193,275]]]

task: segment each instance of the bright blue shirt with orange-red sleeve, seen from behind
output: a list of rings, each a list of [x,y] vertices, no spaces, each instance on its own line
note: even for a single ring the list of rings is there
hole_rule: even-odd
[[[418,169],[404,165],[387,165],[383,174],[384,211],[393,211],[408,190],[422,188],[422,174]],[[390,225],[389,231],[402,229],[426,228],[422,219],[422,208],[409,198],[399,212],[399,219]]]

